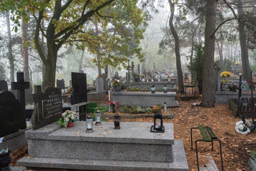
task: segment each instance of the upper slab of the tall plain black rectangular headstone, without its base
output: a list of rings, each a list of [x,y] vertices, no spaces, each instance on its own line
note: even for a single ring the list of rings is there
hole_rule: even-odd
[[[71,73],[72,105],[87,102],[86,73]]]

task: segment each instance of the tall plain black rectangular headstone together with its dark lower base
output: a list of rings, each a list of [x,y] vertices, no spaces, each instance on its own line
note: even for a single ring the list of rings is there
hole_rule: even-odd
[[[79,120],[85,120],[87,115],[87,82],[86,73],[71,73],[72,79],[72,103],[76,105]],[[79,105],[82,104],[82,105]]]

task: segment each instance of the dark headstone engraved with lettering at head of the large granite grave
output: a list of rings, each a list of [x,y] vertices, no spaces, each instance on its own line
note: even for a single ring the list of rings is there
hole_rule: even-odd
[[[61,89],[47,86],[41,92],[41,86],[35,86],[35,92],[35,106],[31,117],[33,130],[58,121],[62,113]]]

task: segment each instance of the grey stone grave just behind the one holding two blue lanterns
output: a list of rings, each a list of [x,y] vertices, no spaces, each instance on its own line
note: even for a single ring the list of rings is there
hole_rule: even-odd
[[[176,79],[170,79],[170,81],[160,81],[160,82],[145,82],[145,83],[132,83],[131,88],[139,88],[139,90],[149,90],[150,87],[155,85],[156,90],[163,91],[163,86],[168,87],[168,91],[171,91],[176,84]]]

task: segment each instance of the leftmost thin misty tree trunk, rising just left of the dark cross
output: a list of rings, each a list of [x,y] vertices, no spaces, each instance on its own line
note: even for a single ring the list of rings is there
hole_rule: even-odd
[[[6,12],[6,24],[8,34],[8,58],[10,63],[10,78],[11,82],[14,82],[14,56],[12,55],[12,42],[11,42],[11,26],[9,11]]]

